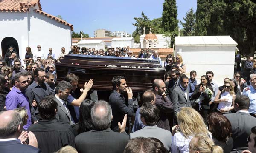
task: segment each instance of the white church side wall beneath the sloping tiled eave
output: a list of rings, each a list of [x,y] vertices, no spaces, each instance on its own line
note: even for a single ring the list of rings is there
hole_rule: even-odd
[[[72,41],[69,26],[35,11],[30,11],[28,18],[30,18],[28,24],[29,46],[32,48],[32,52],[37,50],[37,45],[41,45],[45,54],[48,54],[49,48],[52,48],[56,58],[61,54],[61,47],[66,48],[66,53],[70,51]]]

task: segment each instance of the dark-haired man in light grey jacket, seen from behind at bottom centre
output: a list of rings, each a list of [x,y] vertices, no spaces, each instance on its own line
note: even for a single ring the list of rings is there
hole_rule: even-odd
[[[159,117],[159,109],[156,105],[145,102],[140,108],[141,121],[143,122],[143,129],[134,133],[130,133],[130,139],[136,137],[153,137],[159,139],[167,150],[171,149],[172,134],[168,130],[157,127],[157,120]]]

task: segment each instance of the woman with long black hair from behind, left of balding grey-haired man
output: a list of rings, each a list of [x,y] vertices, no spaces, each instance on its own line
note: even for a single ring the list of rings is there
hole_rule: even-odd
[[[72,126],[75,136],[93,129],[93,123],[90,113],[94,104],[95,102],[89,99],[85,99],[81,103],[79,108],[79,122]]]

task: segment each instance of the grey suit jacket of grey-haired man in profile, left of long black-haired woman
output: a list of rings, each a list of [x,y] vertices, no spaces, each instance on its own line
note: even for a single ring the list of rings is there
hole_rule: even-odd
[[[71,120],[71,114],[70,111],[64,107],[61,102],[54,97],[55,101],[58,103],[58,111],[56,114],[56,118],[58,119],[58,122],[65,123],[68,125],[73,125],[73,121]]]

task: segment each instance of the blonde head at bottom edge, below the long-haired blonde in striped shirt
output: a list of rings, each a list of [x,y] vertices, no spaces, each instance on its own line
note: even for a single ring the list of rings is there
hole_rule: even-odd
[[[208,136],[197,133],[189,143],[189,153],[223,153],[223,149]]]

